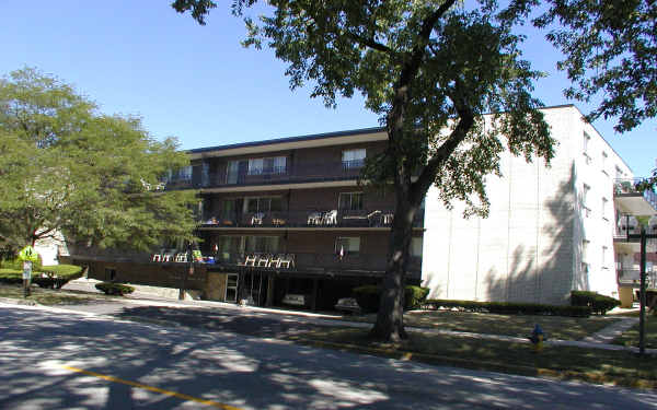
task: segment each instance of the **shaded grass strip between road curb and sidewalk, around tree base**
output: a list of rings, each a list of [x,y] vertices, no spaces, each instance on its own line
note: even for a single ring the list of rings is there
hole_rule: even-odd
[[[537,353],[530,343],[417,332],[402,343],[376,343],[367,330],[353,328],[319,328],[290,339],[439,365],[657,388],[657,356],[638,358],[623,351],[546,345]]]

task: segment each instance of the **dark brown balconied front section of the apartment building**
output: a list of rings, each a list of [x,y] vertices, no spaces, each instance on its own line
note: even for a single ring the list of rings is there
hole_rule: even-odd
[[[385,270],[394,192],[359,183],[382,128],[189,151],[168,189],[199,189],[206,297],[333,308]],[[419,283],[423,220],[410,282]]]

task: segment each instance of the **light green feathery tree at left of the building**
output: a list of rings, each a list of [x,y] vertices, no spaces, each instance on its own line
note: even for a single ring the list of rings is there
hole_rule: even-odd
[[[192,239],[194,192],[150,192],[188,164],[138,118],[106,116],[70,85],[31,68],[0,80],[0,243],[62,232],[91,246],[147,250]]]

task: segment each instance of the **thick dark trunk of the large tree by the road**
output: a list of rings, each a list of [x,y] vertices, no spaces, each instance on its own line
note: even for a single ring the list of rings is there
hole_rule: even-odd
[[[408,200],[407,188],[402,187],[396,190],[396,209],[390,235],[390,255],[377,323],[370,331],[370,337],[382,341],[397,342],[408,337],[404,330],[404,285],[411,254],[413,219],[417,206]]]

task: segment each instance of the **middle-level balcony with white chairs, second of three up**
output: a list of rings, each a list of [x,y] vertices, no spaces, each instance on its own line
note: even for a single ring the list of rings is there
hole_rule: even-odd
[[[307,210],[269,211],[204,215],[200,229],[345,229],[345,227],[390,227],[394,220],[394,210]],[[424,227],[424,212],[417,212],[413,227]]]

